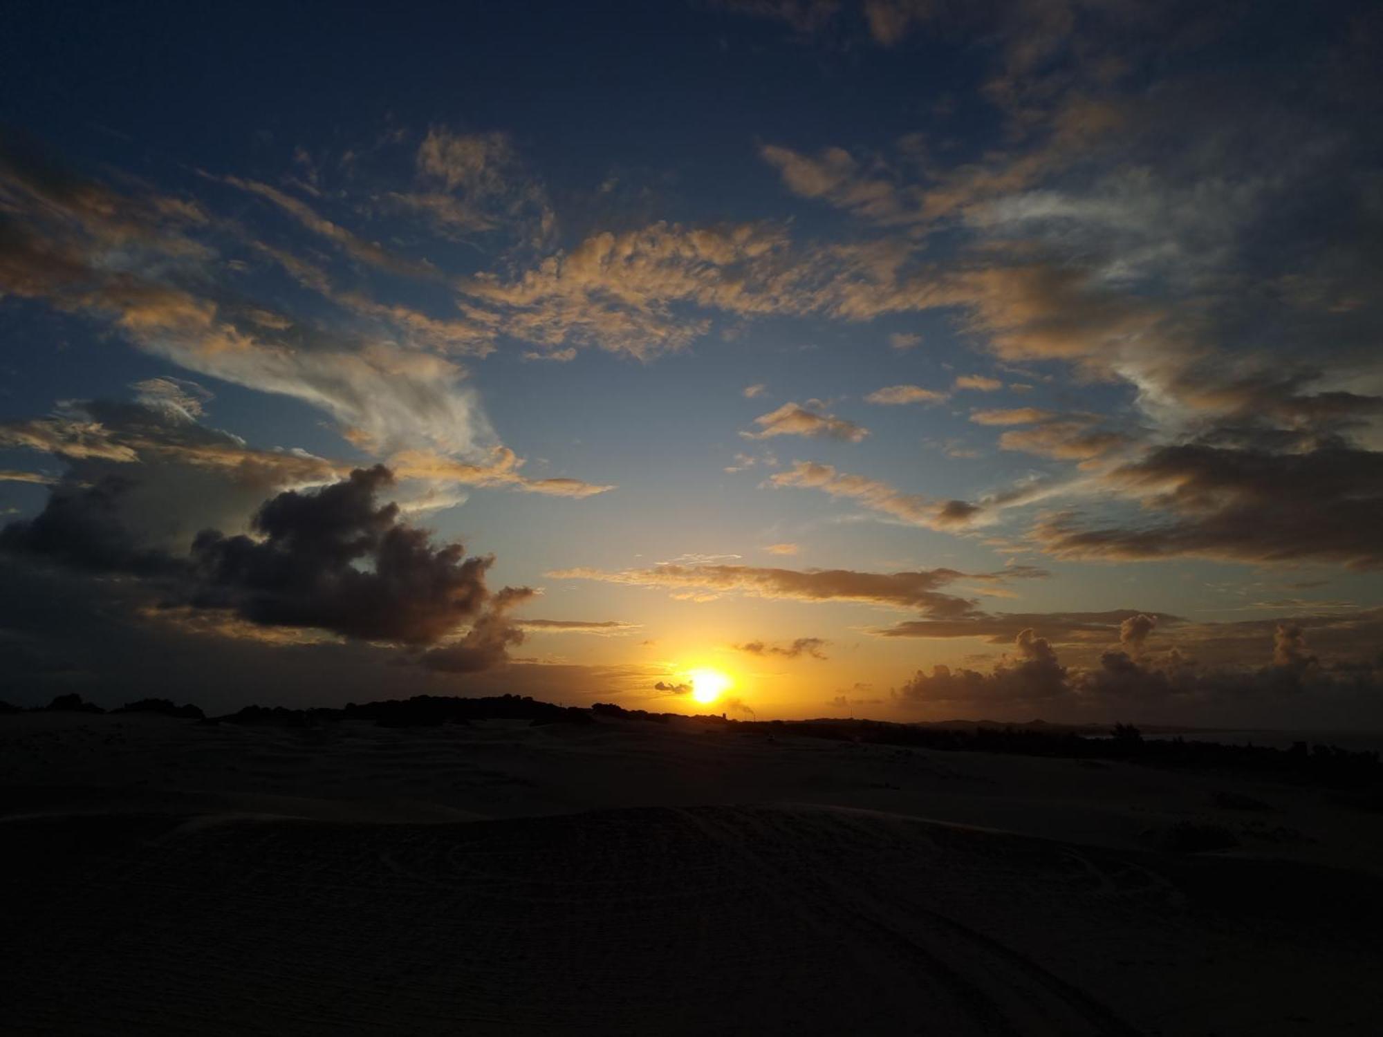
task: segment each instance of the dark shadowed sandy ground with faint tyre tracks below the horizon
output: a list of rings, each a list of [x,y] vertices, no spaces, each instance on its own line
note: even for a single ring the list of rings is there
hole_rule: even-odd
[[[1149,849],[1181,820],[1241,845]],[[1224,774],[694,723],[32,713],[0,718],[0,838],[4,1033],[1383,1018],[1383,816]]]

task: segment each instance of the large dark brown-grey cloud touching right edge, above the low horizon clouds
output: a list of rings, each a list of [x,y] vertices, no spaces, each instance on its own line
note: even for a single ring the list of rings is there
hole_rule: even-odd
[[[1039,523],[1032,539],[1073,559],[1383,566],[1383,454],[1339,442],[1294,452],[1192,442],[1156,448],[1102,485],[1173,518],[1091,527],[1061,513]]]

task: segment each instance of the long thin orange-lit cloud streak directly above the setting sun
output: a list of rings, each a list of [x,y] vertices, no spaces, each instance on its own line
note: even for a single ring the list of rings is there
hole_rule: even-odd
[[[651,568],[556,570],[553,579],[595,579],[606,583],[660,588],[672,592],[743,593],[755,597],[798,601],[862,601],[866,604],[917,608],[936,618],[976,614],[975,603],[942,590],[957,581],[1004,582],[1040,571],[965,574],[950,568],[914,572],[859,572],[855,570],[788,570],[754,566],[682,566],[664,563]]]

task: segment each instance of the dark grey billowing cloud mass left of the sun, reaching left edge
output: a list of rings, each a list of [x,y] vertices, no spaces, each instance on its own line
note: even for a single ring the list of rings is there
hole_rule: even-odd
[[[505,648],[523,640],[508,614],[534,592],[491,593],[485,572],[494,559],[466,557],[459,543],[437,546],[426,530],[400,521],[397,503],[376,499],[391,484],[391,473],[375,466],[315,492],[281,492],[254,513],[254,538],[203,530],[187,553],[148,546],[130,525],[124,498],[136,489],[133,478],[64,483],[39,516],[0,532],[0,550],[154,579],[165,606],[263,628],[423,646],[469,625],[461,642],[426,664],[472,672],[501,662]]]

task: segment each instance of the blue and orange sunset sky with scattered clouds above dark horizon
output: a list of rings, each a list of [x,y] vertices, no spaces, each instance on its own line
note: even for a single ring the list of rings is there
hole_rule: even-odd
[[[0,698],[1380,729],[1380,44],[12,4]]]

